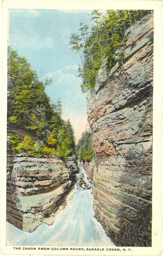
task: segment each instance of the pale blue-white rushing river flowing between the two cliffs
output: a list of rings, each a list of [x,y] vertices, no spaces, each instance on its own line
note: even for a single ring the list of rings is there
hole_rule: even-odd
[[[91,184],[82,164],[79,164],[76,185],[64,210],[54,217],[54,224],[42,224],[33,233],[24,232],[7,223],[7,245],[45,246],[115,246],[93,216]],[[82,189],[79,180],[89,189]]]

